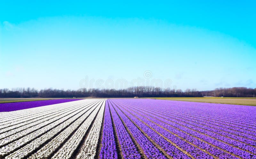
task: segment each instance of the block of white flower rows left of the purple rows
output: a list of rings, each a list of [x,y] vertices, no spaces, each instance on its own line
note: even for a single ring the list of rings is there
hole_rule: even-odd
[[[11,131],[6,130],[6,134],[12,135],[0,140],[0,158],[69,158],[74,156],[86,158],[81,157],[85,150],[91,153],[88,156],[95,155],[105,100],[85,99],[68,104],[63,103],[63,107],[55,106],[45,106],[49,112],[52,112],[45,118],[30,115],[34,118],[30,123],[25,120],[20,122],[24,124],[23,126],[13,128]],[[49,110],[51,107],[52,111]],[[44,109],[44,107],[41,108]],[[24,112],[24,110],[20,111]],[[43,116],[45,113],[39,112],[36,111],[36,115]],[[19,114],[18,111],[13,113]],[[5,133],[0,135],[3,134]]]

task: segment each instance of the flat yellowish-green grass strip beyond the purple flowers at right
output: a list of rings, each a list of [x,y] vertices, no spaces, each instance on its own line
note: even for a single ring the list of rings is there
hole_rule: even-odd
[[[190,101],[190,102],[256,106],[256,98],[202,97],[202,98],[150,98],[150,99],[180,100],[180,101]]]

